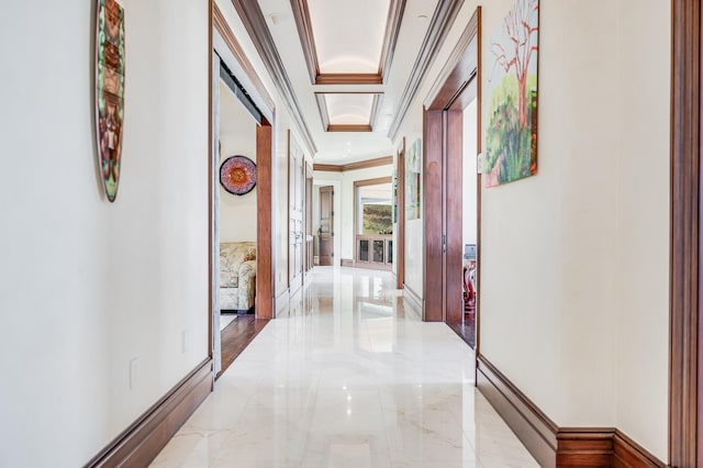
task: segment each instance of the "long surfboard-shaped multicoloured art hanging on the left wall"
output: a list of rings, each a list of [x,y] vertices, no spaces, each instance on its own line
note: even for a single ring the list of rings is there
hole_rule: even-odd
[[[114,201],[124,120],[124,10],[116,0],[98,0],[96,108],[100,175],[108,200]]]

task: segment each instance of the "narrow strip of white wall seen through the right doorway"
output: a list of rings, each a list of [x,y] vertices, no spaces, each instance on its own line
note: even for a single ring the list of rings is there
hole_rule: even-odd
[[[477,238],[477,182],[476,175],[476,143],[478,124],[478,100],[473,100],[464,110],[464,244],[476,244]]]

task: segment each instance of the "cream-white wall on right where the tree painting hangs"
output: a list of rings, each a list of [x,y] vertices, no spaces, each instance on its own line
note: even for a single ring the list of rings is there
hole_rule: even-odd
[[[512,4],[483,8],[483,44]],[[543,0],[538,174],[481,212],[481,353],[558,425],[662,460],[669,41],[668,2]]]

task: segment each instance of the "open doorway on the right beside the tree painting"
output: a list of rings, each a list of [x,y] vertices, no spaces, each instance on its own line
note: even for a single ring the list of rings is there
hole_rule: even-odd
[[[480,14],[479,7],[433,87],[423,132],[423,319],[446,322],[475,347],[477,328],[466,325],[479,320],[481,176],[473,176],[473,164],[480,153]]]

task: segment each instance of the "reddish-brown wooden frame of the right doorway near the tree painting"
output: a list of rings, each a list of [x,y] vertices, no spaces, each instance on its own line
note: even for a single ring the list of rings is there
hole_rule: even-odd
[[[472,54],[469,47],[473,43],[476,43],[476,54]],[[457,308],[460,308],[461,314],[464,313],[464,307],[460,303],[464,257],[461,235],[462,113],[469,103],[466,98],[467,93],[464,91],[476,86],[477,134],[479,135],[477,137],[477,154],[480,154],[480,60],[481,7],[477,7],[447,60],[447,65],[439,73],[439,78],[425,101],[423,112],[423,224],[425,238],[423,246],[423,320],[426,322],[444,322],[448,319],[454,322],[456,321],[455,315],[459,313],[455,311]],[[477,177],[477,245],[480,246],[481,176]],[[447,316],[448,298],[455,298],[449,305],[449,316]],[[478,321],[478,301],[476,314]],[[476,350],[478,356],[478,339]]]

